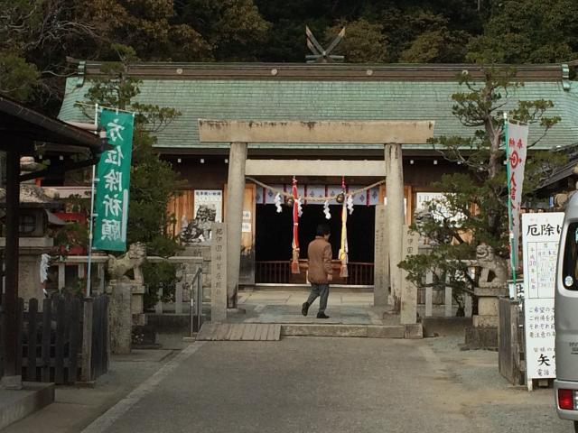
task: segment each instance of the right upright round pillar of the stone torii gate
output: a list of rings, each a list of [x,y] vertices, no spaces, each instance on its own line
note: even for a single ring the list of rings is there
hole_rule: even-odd
[[[402,260],[404,215],[404,169],[401,153],[401,144],[387,143],[385,148],[386,160],[386,194],[387,194],[387,226],[389,244],[389,278],[391,281],[390,303],[395,310],[401,306],[402,272],[397,263]]]

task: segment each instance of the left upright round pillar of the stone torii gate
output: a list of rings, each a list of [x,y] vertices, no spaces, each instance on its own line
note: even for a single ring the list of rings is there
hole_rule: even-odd
[[[229,309],[237,308],[246,161],[247,143],[231,143],[228,154],[227,182],[227,306]]]

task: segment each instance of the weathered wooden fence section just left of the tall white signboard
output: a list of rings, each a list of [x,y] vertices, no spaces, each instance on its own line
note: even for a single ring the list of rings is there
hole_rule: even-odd
[[[517,300],[499,299],[498,366],[499,373],[514,385],[524,383],[523,346],[520,309]]]

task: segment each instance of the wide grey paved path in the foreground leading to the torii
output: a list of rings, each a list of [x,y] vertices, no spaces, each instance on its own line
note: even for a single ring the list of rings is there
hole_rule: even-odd
[[[194,343],[85,432],[572,431],[552,390],[508,387],[458,341]]]

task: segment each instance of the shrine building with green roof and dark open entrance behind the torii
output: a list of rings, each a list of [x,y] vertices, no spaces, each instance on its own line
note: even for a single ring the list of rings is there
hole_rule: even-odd
[[[171,161],[186,189],[174,200],[173,230],[198,220],[227,217],[227,182],[230,143],[201,141],[200,119],[222,121],[428,121],[434,122],[433,136],[471,136],[468,128],[452,115],[452,94],[465,92],[459,74],[468,71],[481,78],[476,65],[363,65],[363,64],[263,64],[263,63],[138,63],[128,73],[142,80],[135,101],[171,107],[181,115],[156,133],[155,144],[163,159]],[[91,80],[102,76],[101,64],[79,62],[76,76],[68,78],[60,118],[86,121],[75,104],[85,100]],[[517,100],[549,99],[549,115],[562,121],[548,132],[536,149],[556,150],[578,143],[578,85],[569,79],[566,65],[525,65],[517,68],[525,83],[512,89],[507,107]],[[542,134],[530,128],[530,142]],[[248,143],[249,160],[261,162],[261,175],[250,175],[247,167],[242,219],[242,262],[240,284],[303,284],[305,274],[293,274],[293,212],[275,197],[291,193],[295,178],[299,197],[331,197],[324,202],[303,199],[299,218],[300,259],[320,223],[331,226],[334,259],[340,249],[341,205],[335,197],[342,189],[352,195],[353,212],[348,215],[349,276],[336,283],[359,287],[374,284],[376,205],[387,198],[383,144],[375,143]],[[443,191],[433,182],[444,173],[464,170],[443,159],[429,143],[402,145],[404,207],[406,224],[424,201]],[[294,173],[295,161],[323,161],[331,170]],[[345,161],[345,162],[343,162]],[[263,165],[265,164],[265,165]],[[341,176],[340,164],[359,167],[355,176]],[[248,164],[247,164],[248,165]],[[344,166],[344,170],[345,170]],[[367,170],[366,170],[367,168]],[[280,195],[282,201],[283,195]],[[279,201],[279,198],[276,199]],[[197,211],[200,209],[200,215]],[[327,219],[327,216],[331,216]],[[196,218],[196,219],[195,219]],[[191,242],[204,237],[195,227]],[[201,227],[202,228],[202,227]],[[389,227],[401,230],[401,227]],[[336,260],[336,266],[339,263]],[[339,275],[339,272],[336,272]]]

